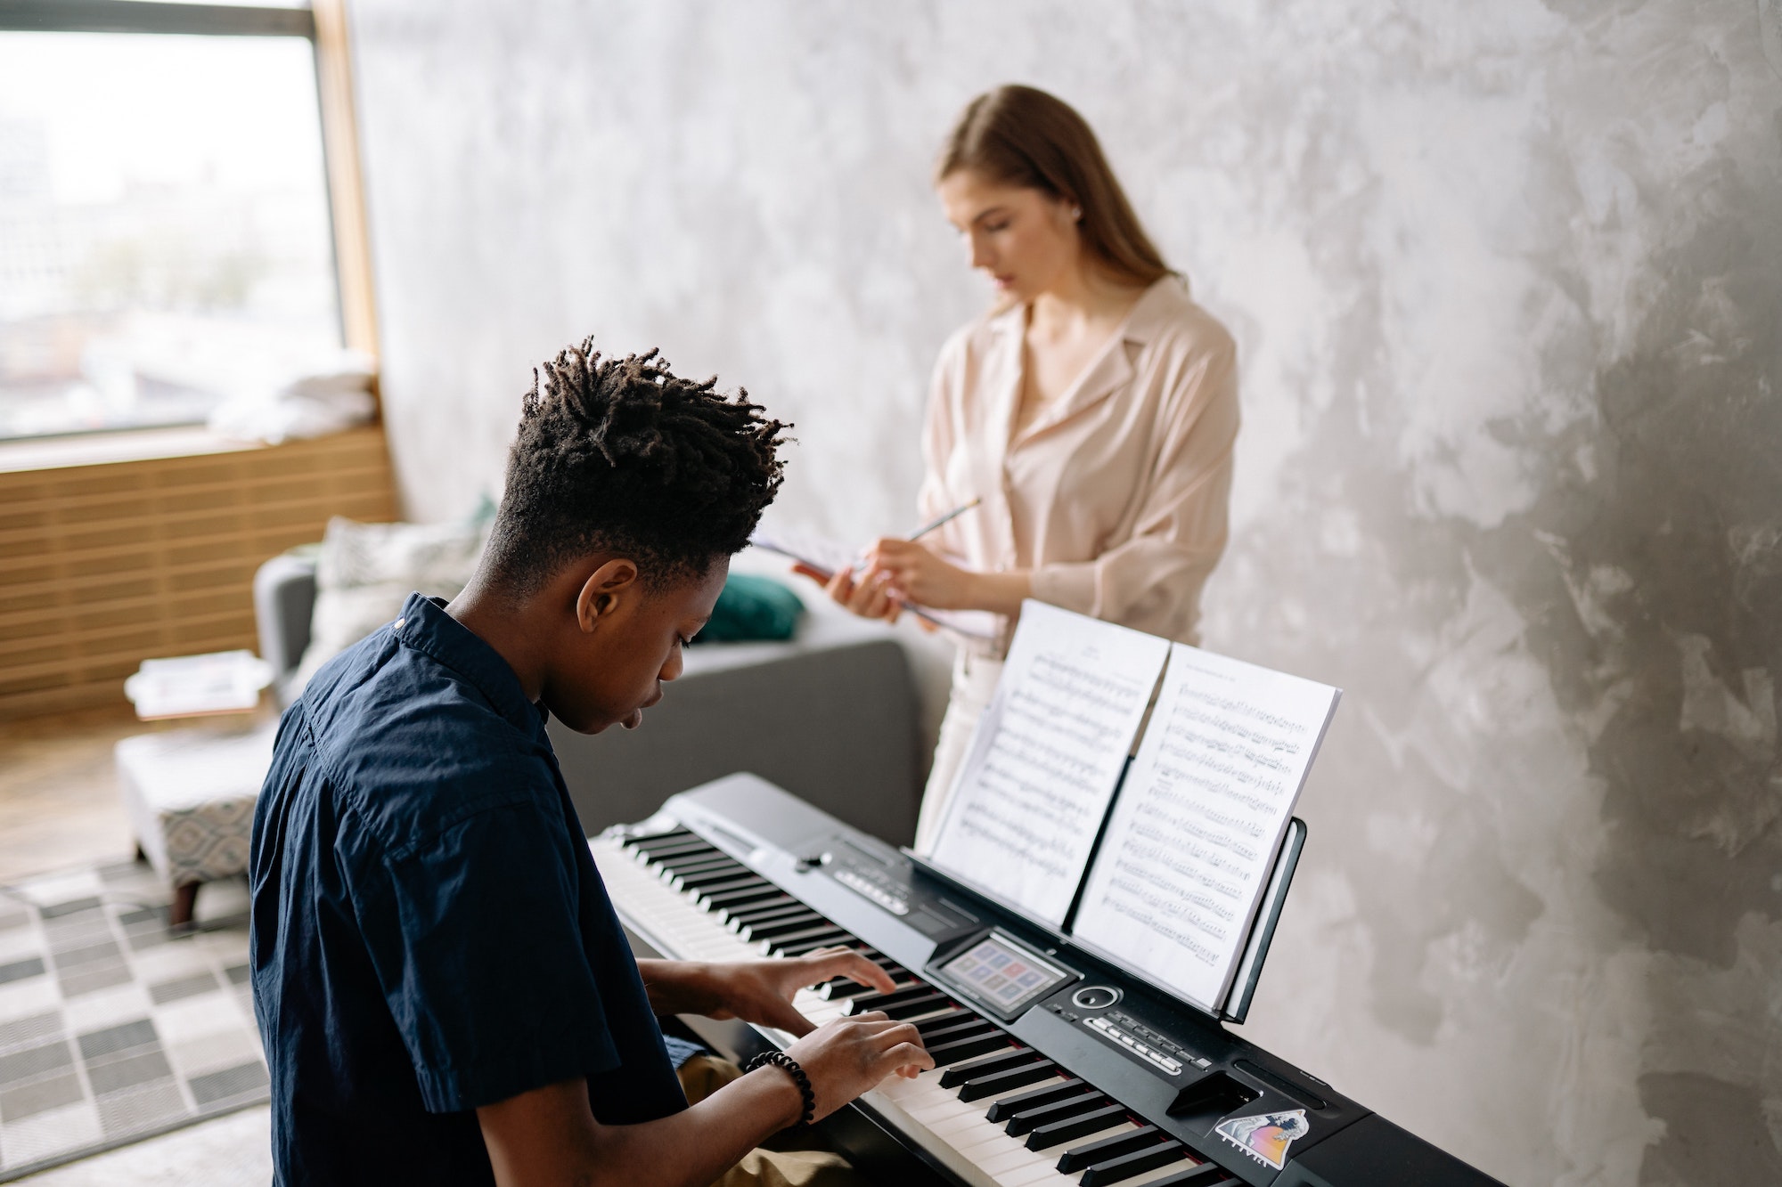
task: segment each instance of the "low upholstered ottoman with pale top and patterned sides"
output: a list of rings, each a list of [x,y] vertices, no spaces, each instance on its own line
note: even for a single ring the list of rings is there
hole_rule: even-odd
[[[276,722],[178,729],[116,747],[118,790],[137,847],[173,888],[168,923],[192,921],[198,888],[248,868],[253,804],[273,765]]]

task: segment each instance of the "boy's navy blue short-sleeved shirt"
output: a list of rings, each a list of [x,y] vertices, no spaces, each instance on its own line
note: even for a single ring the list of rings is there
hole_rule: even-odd
[[[290,706],[253,820],[280,1183],[492,1183],[472,1112],[686,1109],[545,713],[419,594]]]

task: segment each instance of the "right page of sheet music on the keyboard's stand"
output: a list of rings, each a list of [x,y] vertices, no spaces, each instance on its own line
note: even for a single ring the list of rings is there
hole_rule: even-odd
[[[1173,643],[1073,936],[1217,1012],[1340,695]]]

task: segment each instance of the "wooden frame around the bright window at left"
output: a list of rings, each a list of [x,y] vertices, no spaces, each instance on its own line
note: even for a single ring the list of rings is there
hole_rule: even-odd
[[[109,32],[214,37],[303,37],[315,59],[315,98],[323,121],[323,173],[328,189],[328,225],[333,246],[340,337],[351,349],[378,353],[378,310],[371,273],[371,239],[358,159],[353,105],[353,66],[347,48],[346,0],[312,0],[307,9],[242,4],[160,4],[159,0],[0,0],[0,32]],[[376,397],[376,378],[372,396]],[[168,456],[159,442],[180,453],[191,449],[196,426],[119,428],[71,437],[0,440],[0,469],[37,469],[27,456],[87,453],[78,442],[107,438],[102,453]],[[141,438],[130,442],[128,438]],[[125,440],[119,440],[125,438]],[[132,447],[137,446],[137,447]],[[7,453],[20,451],[16,465]],[[62,462],[66,463],[66,462]]]

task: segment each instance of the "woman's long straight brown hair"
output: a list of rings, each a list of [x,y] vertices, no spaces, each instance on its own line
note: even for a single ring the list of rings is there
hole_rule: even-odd
[[[1076,205],[1089,257],[1119,283],[1148,287],[1173,274],[1126,201],[1089,123],[1037,87],[985,91],[959,114],[934,180],[971,169],[1003,185],[1037,189]]]

